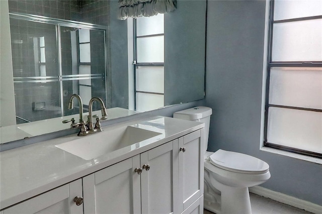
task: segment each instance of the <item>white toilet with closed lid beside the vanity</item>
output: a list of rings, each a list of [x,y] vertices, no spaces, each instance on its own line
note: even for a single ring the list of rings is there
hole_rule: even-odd
[[[211,108],[198,106],[173,117],[205,124],[204,208],[217,214],[252,213],[249,187],[266,182],[269,165],[253,156],[219,149],[208,152]]]

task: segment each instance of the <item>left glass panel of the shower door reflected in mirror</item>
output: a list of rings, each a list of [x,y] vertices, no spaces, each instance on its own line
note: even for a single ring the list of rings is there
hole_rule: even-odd
[[[56,26],[10,18],[17,124],[61,116]]]

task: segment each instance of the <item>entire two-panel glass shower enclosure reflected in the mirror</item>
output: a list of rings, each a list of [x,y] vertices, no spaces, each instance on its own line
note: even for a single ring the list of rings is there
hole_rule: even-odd
[[[74,93],[106,102],[106,26],[11,13],[10,30],[17,124],[77,114]]]

